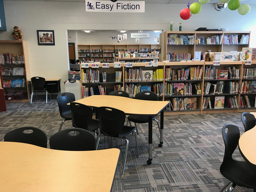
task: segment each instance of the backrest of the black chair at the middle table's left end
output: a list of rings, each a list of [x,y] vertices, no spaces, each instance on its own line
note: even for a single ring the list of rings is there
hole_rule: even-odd
[[[69,92],[63,92],[60,93],[57,96],[57,102],[60,110],[60,116],[65,119],[64,116],[62,116],[63,113],[68,113],[71,111],[70,105],[67,105],[67,103],[71,103],[75,101],[75,95],[74,93],[69,93]]]

